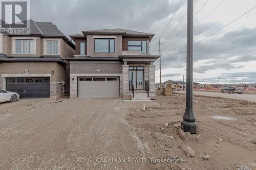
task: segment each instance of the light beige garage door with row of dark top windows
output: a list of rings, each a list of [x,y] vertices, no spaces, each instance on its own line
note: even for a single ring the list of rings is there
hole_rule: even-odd
[[[119,98],[119,78],[79,78],[78,98]]]

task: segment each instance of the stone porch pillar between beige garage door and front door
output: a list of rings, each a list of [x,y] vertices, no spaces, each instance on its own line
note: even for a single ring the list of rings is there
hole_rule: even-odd
[[[125,63],[126,64],[126,63]],[[123,76],[122,76],[122,92],[123,100],[132,100],[132,94],[129,91],[129,65],[123,65]]]

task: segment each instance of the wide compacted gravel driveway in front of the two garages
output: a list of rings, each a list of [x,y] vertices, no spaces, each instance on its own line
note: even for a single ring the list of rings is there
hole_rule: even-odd
[[[147,169],[128,110],[121,99],[2,103],[0,169]]]

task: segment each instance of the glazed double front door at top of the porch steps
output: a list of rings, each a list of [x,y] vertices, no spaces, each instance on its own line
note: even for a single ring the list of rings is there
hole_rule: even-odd
[[[129,67],[129,81],[133,82],[134,89],[144,89],[144,67]]]

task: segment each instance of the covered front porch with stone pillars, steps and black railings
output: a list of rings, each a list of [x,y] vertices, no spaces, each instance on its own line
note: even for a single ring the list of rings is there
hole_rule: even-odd
[[[158,56],[119,56],[122,59],[122,89],[124,100],[156,99],[155,65]]]

